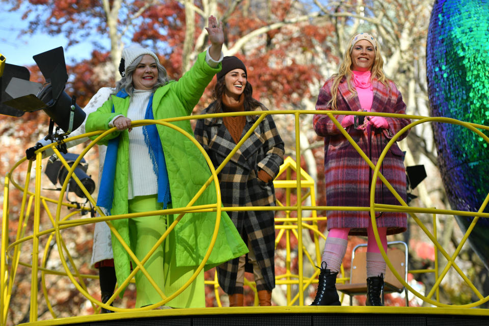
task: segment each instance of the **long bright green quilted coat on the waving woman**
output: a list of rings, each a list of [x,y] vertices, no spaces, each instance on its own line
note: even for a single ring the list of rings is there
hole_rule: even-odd
[[[205,52],[200,53],[191,70],[186,72],[177,82],[172,81],[155,91],[153,96],[153,115],[155,120],[192,114],[192,110],[199,101],[204,89],[214,74],[221,70],[221,65],[218,68],[211,68],[205,62],[205,55]],[[108,123],[115,116],[119,114],[126,116],[129,101],[130,97],[123,99],[111,95],[96,112],[88,116],[86,131],[109,129]],[[111,113],[112,105],[114,105],[115,113]],[[188,120],[176,121],[172,122],[172,124],[188,132],[192,138],[194,137]],[[157,129],[165,153],[172,207],[185,207],[207,181],[211,175],[210,170],[204,156],[184,134],[161,125],[157,125]],[[120,137],[120,139],[114,180],[114,201],[111,211],[113,215],[128,212],[128,131],[112,132],[98,143],[99,145],[106,145],[108,140],[115,137]],[[96,136],[92,137],[92,139],[95,138]],[[214,183],[211,183],[194,205],[213,203],[216,203],[216,192]],[[167,216],[168,225],[176,217],[176,215]],[[209,248],[215,220],[215,212],[187,213],[183,216],[166,239],[166,241],[171,241],[172,248],[175,248],[177,265],[200,265]],[[114,220],[112,223],[124,241],[129,244],[128,220]],[[129,276],[130,257],[115,236],[112,236],[112,246],[116,276],[120,284]],[[221,214],[218,238],[207,260],[205,269],[212,268],[247,252],[246,244],[242,241],[229,216],[223,212]]]

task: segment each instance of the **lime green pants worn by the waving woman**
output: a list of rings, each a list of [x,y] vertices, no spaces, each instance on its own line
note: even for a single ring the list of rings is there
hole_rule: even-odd
[[[170,207],[171,208],[171,207]],[[129,213],[162,209],[157,196],[137,196],[129,200]],[[153,215],[129,219],[130,248],[141,261],[167,229],[167,221],[173,221],[172,215]],[[185,284],[197,269],[196,266],[177,266],[175,259],[174,231],[165,239],[148,261],[143,265],[156,285],[168,297]],[[132,266],[136,266],[132,262]],[[155,304],[162,300],[156,289],[142,271],[135,275],[137,308]],[[182,293],[166,303],[173,308],[204,308],[204,270]]]

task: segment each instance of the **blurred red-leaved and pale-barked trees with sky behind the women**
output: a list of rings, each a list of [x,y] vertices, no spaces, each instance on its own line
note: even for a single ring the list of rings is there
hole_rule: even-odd
[[[385,72],[403,94],[408,106],[407,113],[428,116],[425,51],[432,6],[428,0],[2,0],[2,3],[13,11],[24,10],[23,19],[29,21],[29,29],[23,33],[44,31],[51,35],[62,34],[67,39],[67,47],[88,37],[93,39],[96,35],[90,59],[73,62],[68,67],[70,79],[66,91],[77,97],[81,107],[100,87],[115,85],[120,78],[117,68],[122,48],[132,42],[150,47],[166,67],[169,77],[178,79],[188,70],[197,54],[208,46],[204,27],[207,17],[216,15],[224,23],[224,55],[235,55],[243,60],[248,67],[254,97],[269,110],[314,110],[318,91],[324,81],[337,72],[350,36],[369,32],[378,37]],[[35,49],[31,50],[33,55],[37,54]],[[29,69],[31,80],[43,81],[37,67]],[[196,106],[194,114],[212,101],[214,83],[215,79]],[[297,135],[293,119],[292,115],[275,116],[279,130],[283,130],[281,135],[286,142],[286,155],[295,159]],[[316,204],[326,205],[323,195],[322,139],[312,129],[312,115],[303,115],[301,119],[303,169],[316,180]],[[14,162],[24,155],[24,150],[47,133],[47,125],[47,116],[42,113],[26,114],[21,118],[0,116],[0,138],[4,144],[0,148],[2,181]],[[428,174],[427,179],[417,187],[415,194],[419,197],[412,205],[449,208],[437,168],[431,125],[413,128],[400,147],[406,151],[406,165],[423,164]],[[88,158],[92,162],[94,179],[97,178],[96,156],[95,151]],[[20,183],[24,182],[22,177],[14,175],[14,178],[20,179]],[[15,216],[20,211],[20,196],[16,194],[10,198],[12,237],[17,228]],[[277,196],[283,199],[284,194],[278,192]],[[318,215],[325,213],[318,212]],[[420,214],[420,218],[431,228],[430,215]],[[45,213],[43,221],[49,223]],[[409,221],[412,222],[411,219]],[[442,246],[454,248],[461,234],[455,227],[453,216],[439,216],[438,222],[438,232],[443,234],[440,239]],[[325,230],[325,223],[320,228]],[[85,241],[86,249],[91,246],[92,228],[84,230],[84,234],[78,234],[78,239]],[[413,268],[428,265],[433,246],[416,224],[397,238],[410,243]],[[303,239],[307,248],[313,246],[309,232],[305,231]],[[352,239],[348,249],[351,250],[353,243],[363,240]],[[277,260],[284,259],[280,254],[281,246],[283,243],[278,244]],[[79,253],[77,259],[80,265],[86,265],[87,273],[95,274],[88,266],[89,258],[90,250],[85,250]],[[469,246],[464,247],[459,259],[463,260],[466,268],[474,270],[474,275],[486,275],[480,259]],[[345,256],[344,264],[345,268],[349,267],[349,254]],[[277,266],[280,264],[277,263]],[[296,262],[294,268],[297,268]],[[305,273],[312,274],[313,268],[304,266]],[[23,275],[17,276],[19,280]],[[25,277],[27,275],[25,273]],[[212,275],[208,273],[207,278],[212,278]],[[433,283],[432,276],[416,275],[415,278],[428,288]],[[442,284],[442,296],[448,301],[457,297],[457,300],[471,302],[470,298],[461,298],[459,289],[454,288],[458,283],[454,281],[456,278],[446,278]],[[489,291],[482,284],[484,279],[476,279],[475,283],[480,282],[478,289],[484,288],[487,295]],[[29,279],[24,279],[24,282],[29,282]],[[51,282],[56,282],[56,279],[53,278]],[[90,286],[96,296],[98,282],[94,281]],[[29,317],[25,303],[28,302],[28,290],[29,285],[22,282],[16,285],[15,297],[10,305],[12,324],[24,322]],[[314,288],[310,290],[306,304],[312,301],[310,296],[314,295]],[[210,292],[207,305],[215,306]],[[59,293],[56,295],[60,296]],[[127,300],[130,304],[131,299]],[[285,304],[280,288],[274,291],[273,300],[277,305]],[[253,302],[251,293],[246,302]],[[116,300],[115,305],[118,304],[120,302]],[[86,299],[74,289],[63,295],[54,309],[59,316],[93,313]],[[42,302],[39,311],[40,315],[47,313]]]

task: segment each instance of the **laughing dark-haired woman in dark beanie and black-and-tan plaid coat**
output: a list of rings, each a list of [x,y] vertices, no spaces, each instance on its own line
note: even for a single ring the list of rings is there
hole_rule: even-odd
[[[246,66],[236,57],[225,57],[217,74],[214,98],[202,114],[266,111],[253,99]],[[197,120],[195,138],[215,168],[219,167],[258,116],[232,116]],[[275,206],[273,180],[283,163],[284,143],[271,115],[257,126],[219,173],[223,205]],[[218,266],[219,284],[229,294],[229,305],[243,306],[244,271],[254,274],[260,306],[271,305],[275,287],[274,211],[228,212],[250,252]],[[251,269],[249,267],[252,267]]]

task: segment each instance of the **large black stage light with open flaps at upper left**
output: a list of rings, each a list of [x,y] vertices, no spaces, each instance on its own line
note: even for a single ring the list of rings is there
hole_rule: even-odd
[[[46,83],[30,82],[27,68],[5,64],[0,78],[0,114],[20,117],[25,112],[43,110],[51,118],[48,137],[52,135],[52,122],[69,134],[83,123],[85,112],[76,105],[74,97],[64,92],[68,73],[63,48],[39,53],[33,59]]]

